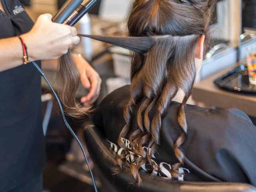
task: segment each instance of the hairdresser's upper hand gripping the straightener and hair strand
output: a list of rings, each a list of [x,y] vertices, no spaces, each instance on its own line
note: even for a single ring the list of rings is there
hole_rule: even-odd
[[[31,61],[59,58],[80,41],[76,28],[52,22],[51,14],[40,15],[32,30],[22,37]]]

